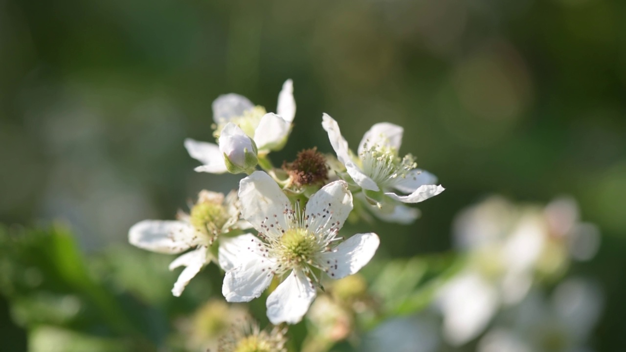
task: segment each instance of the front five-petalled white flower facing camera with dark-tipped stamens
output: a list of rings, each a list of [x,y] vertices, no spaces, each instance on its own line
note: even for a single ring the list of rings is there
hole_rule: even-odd
[[[338,246],[337,232],[352,210],[352,195],[344,181],[335,181],[312,195],[304,210],[265,172],[241,180],[242,216],[259,231],[250,239],[241,264],[228,271],[222,293],[229,302],[258,298],[274,276],[287,276],[267,298],[272,324],[302,319],[316,296],[316,271],[332,279],[354,274],[374,256],[376,234],[356,234]]]

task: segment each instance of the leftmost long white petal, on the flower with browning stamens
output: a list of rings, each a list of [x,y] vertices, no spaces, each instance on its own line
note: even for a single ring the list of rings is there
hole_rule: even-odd
[[[128,230],[128,242],[148,251],[177,254],[194,245],[194,233],[187,222],[143,220]]]

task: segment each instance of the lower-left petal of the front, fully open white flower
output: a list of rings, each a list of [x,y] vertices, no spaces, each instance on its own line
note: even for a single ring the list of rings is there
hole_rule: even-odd
[[[226,272],[222,294],[228,302],[249,302],[258,298],[274,278],[274,259],[264,257],[265,252],[256,237],[250,239],[249,252],[242,252],[239,266]]]

